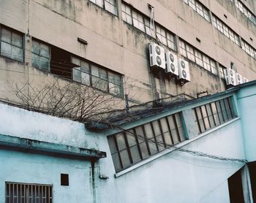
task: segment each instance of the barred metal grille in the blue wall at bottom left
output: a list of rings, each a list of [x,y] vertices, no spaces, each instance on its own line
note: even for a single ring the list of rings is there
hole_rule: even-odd
[[[6,183],[5,203],[52,203],[53,185]]]

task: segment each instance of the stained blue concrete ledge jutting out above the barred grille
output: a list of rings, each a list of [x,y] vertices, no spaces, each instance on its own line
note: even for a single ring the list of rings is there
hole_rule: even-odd
[[[70,158],[105,158],[107,154],[99,150],[78,148],[34,139],[13,137],[0,134],[0,148],[35,153],[50,153],[53,156],[69,156]]]

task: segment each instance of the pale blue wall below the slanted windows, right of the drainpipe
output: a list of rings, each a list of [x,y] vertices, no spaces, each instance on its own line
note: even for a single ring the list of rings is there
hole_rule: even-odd
[[[244,158],[240,120],[189,143],[184,148],[227,158]],[[108,158],[110,154],[108,154]],[[111,161],[111,160],[110,160]],[[148,164],[99,183],[99,202],[229,202],[227,178],[244,164],[174,151]],[[104,166],[102,166],[104,168]]]

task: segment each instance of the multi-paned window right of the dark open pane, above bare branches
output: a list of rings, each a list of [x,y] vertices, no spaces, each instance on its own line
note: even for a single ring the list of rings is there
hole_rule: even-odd
[[[121,74],[116,74],[75,57],[72,57],[72,63],[77,65],[72,70],[72,79],[76,82],[91,85],[116,96],[123,96]]]

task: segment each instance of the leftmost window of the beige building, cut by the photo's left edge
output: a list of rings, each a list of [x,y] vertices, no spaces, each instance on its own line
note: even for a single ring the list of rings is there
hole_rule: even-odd
[[[0,36],[1,55],[23,62],[23,37],[15,31],[1,26]]]

